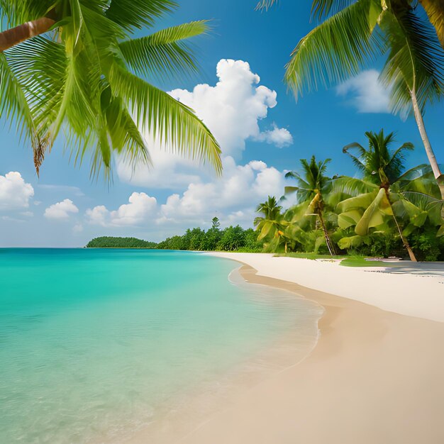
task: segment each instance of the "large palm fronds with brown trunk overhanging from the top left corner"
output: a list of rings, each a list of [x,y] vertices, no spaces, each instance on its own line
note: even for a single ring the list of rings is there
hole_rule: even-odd
[[[60,130],[76,162],[109,174],[118,153],[150,163],[141,131],[221,171],[220,148],[189,109],[147,82],[196,70],[187,39],[205,21],[132,38],[174,9],[170,0],[0,0],[0,111],[34,150],[37,172]]]

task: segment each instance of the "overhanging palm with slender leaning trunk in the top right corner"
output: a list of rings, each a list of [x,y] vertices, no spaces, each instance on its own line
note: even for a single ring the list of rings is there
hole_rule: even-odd
[[[263,0],[259,6],[274,3]],[[385,55],[380,78],[391,91],[392,110],[413,113],[444,199],[444,176],[423,122],[426,104],[443,94],[444,45],[437,32],[443,38],[444,4],[442,0],[421,4],[430,21],[412,0],[313,0],[313,16],[326,20],[296,45],[285,80],[298,96],[318,83],[343,82],[365,62]]]

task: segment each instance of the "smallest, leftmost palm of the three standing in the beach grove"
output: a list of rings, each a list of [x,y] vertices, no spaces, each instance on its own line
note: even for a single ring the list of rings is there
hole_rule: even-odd
[[[276,198],[268,196],[267,201],[262,202],[256,208],[256,212],[262,213],[262,216],[255,218],[254,225],[259,233],[257,240],[263,240],[267,237],[272,238],[274,240],[273,248],[277,248],[284,240],[284,249],[287,252],[287,239],[284,231],[288,222],[284,220],[281,211],[282,206],[277,204]]]

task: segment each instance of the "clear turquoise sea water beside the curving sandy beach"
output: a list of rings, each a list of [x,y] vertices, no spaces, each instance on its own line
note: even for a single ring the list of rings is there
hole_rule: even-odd
[[[314,326],[312,306],[229,282],[236,267],[192,252],[0,250],[0,442],[118,441],[298,319]]]

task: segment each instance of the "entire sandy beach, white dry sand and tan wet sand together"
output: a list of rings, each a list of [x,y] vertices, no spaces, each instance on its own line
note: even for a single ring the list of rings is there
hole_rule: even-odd
[[[444,443],[443,277],[217,255],[249,265],[242,271],[248,281],[289,289],[326,313],[309,357],[240,394],[177,442]]]

